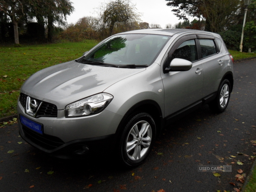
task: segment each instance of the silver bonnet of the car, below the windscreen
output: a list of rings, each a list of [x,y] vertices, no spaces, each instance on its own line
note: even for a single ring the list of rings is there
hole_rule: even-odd
[[[145,68],[123,69],[69,61],[38,71],[26,80],[21,92],[55,104],[60,110],[143,70]]]

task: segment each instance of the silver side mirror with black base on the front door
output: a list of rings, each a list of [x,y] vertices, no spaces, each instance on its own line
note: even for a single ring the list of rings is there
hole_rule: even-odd
[[[166,71],[188,71],[192,68],[192,63],[186,59],[174,58]]]

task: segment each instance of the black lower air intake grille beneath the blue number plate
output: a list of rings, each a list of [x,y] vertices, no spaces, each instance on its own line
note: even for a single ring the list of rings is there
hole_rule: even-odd
[[[64,142],[58,137],[47,134],[38,134],[24,125],[22,125],[22,130],[26,138],[47,150],[55,149],[64,144]]]

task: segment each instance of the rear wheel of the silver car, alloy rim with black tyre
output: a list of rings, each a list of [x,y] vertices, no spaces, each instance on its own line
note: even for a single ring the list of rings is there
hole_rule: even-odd
[[[209,104],[209,107],[215,113],[221,113],[225,111],[230,100],[231,85],[230,81],[224,79],[218,87],[216,98]]]

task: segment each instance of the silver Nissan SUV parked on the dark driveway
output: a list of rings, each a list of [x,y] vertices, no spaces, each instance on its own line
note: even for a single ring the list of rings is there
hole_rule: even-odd
[[[27,79],[17,105],[19,131],[55,157],[113,151],[137,166],[165,125],[204,104],[224,111],[232,88],[233,59],[220,35],[123,32]]]

